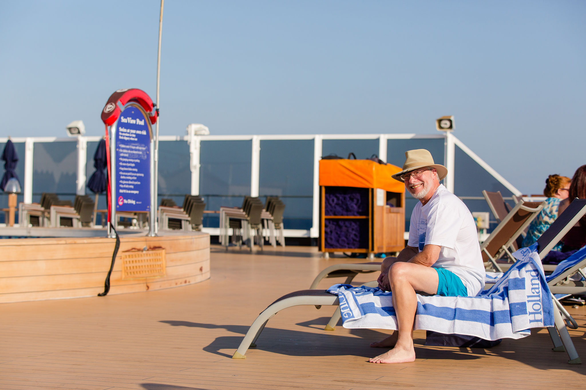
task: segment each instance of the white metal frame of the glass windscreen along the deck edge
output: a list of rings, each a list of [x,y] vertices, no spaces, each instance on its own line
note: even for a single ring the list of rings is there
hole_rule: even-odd
[[[86,193],[86,166],[87,166],[87,143],[99,141],[100,136],[83,136],[77,138],[62,137],[11,137],[14,143],[25,144],[25,172],[23,178],[23,198],[25,203],[32,203],[33,188],[33,152],[35,143],[51,142],[76,142],[77,143],[77,184],[75,192],[78,195]],[[387,161],[387,141],[389,140],[406,140],[406,139],[444,139],[444,165],[448,168],[448,176],[444,181],[449,191],[454,192],[454,172],[455,166],[455,146],[458,146],[464,153],[478,163],[484,170],[492,175],[500,184],[507,188],[514,195],[521,195],[521,192],[515,188],[509,181],[505,180],[498,172],[488,165],[482,158],[478,157],[462,141],[458,140],[451,133],[441,134],[259,134],[259,135],[208,135],[208,136],[161,136],[159,140],[164,141],[188,141],[190,144],[190,171],[191,184],[190,190],[192,195],[199,195],[199,167],[200,167],[200,148],[201,141],[234,141],[250,140],[251,141],[251,181],[250,195],[258,196],[260,182],[260,141],[262,140],[314,140],[314,180],[313,180],[313,203],[312,203],[312,227],[310,230],[285,230],[297,237],[309,236],[318,237],[319,226],[319,160],[322,157],[323,140],[379,140],[379,158]],[[0,143],[5,143],[6,137],[0,137]],[[462,199],[483,199],[481,196],[461,196]],[[214,230],[208,228],[206,230]],[[215,231],[215,230],[214,230]]]

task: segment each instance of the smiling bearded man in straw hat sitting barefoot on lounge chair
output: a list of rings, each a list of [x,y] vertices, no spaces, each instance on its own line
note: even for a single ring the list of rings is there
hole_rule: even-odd
[[[405,153],[403,171],[393,175],[419,203],[411,213],[407,247],[381,265],[379,287],[393,292],[398,330],[372,347],[393,347],[370,363],[415,360],[413,322],[415,292],[443,296],[475,296],[484,287],[476,225],[460,199],[440,184],[448,170],[434,164],[425,149]]]

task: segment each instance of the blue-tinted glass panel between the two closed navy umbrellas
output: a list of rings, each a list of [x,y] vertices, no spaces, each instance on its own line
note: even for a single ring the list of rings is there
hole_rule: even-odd
[[[35,142],[33,149],[33,202],[43,192],[61,200],[75,199],[77,188],[77,140]]]

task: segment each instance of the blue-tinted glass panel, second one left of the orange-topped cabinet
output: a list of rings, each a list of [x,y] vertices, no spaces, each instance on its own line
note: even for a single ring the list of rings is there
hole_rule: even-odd
[[[252,141],[202,141],[199,161],[199,194],[206,210],[242,206],[250,195]],[[203,226],[219,227],[219,215],[204,215]]]

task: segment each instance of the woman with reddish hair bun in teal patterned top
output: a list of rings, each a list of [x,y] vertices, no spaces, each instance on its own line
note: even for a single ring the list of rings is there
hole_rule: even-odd
[[[585,165],[586,166],[586,165]],[[551,223],[556,220],[558,215],[558,206],[560,202],[568,197],[570,191],[570,178],[560,175],[549,175],[546,179],[546,188],[543,194],[547,196],[543,210],[537,214],[536,218],[530,223],[527,230],[527,236],[523,240],[523,246],[528,247],[533,244],[541,234],[547,230]],[[552,250],[560,251],[563,244],[560,242]]]

